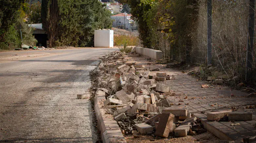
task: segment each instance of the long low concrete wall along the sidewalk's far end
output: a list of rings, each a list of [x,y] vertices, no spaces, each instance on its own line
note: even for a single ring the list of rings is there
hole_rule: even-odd
[[[135,47],[135,51],[139,54],[148,56],[157,61],[163,58],[163,52],[161,50],[153,50],[153,49],[148,49],[148,48]]]

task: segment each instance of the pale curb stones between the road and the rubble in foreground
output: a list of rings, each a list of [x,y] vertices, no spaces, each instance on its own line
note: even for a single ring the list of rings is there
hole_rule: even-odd
[[[94,97],[94,110],[103,143],[127,143],[113,115],[106,115],[106,109],[102,108],[104,106],[103,101],[106,100],[105,94],[96,93]]]

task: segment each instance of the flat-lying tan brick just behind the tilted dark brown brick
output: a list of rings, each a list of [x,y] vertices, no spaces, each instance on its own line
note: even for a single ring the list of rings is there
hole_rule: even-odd
[[[163,110],[163,112],[164,113],[171,113],[176,117],[178,117],[178,116],[187,116],[187,109],[183,108],[183,107],[179,107],[179,106],[172,106],[172,107],[165,108]]]

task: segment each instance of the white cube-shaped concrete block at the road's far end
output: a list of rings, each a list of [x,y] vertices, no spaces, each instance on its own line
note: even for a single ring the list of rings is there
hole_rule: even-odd
[[[94,30],[94,47],[113,48],[113,30]]]

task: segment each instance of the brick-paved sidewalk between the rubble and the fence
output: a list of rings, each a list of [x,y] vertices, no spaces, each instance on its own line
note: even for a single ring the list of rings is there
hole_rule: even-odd
[[[129,55],[130,57],[130,55]],[[132,56],[131,56],[132,57]],[[243,140],[243,138],[256,135],[256,98],[246,97],[248,93],[231,89],[226,86],[209,85],[214,88],[202,88],[201,85],[207,84],[207,81],[198,81],[197,79],[174,70],[166,68],[164,64],[154,64],[147,61],[145,57],[132,57],[129,62],[136,64],[144,64],[146,68],[158,66],[161,72],[167,75],[175,75],[175,80],[159,81],[171,87],[176,93],[175,96],[168,96],[177,105],[184,106],[188,109],[188,113],[202,119],[202,123],[207,130],[218,136],[222,140]],[[154,76],[159,71],[151,71],[150,75]],[[165,95],[167,96],[167,95]],[[231,126],[232,122],[211,122],[207,121],[207,112],[216,109],[232,108],[238,111],[252,111],[253,120],[240,123],[237,126]]]

